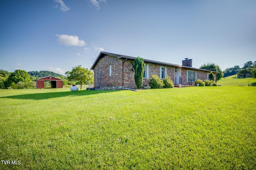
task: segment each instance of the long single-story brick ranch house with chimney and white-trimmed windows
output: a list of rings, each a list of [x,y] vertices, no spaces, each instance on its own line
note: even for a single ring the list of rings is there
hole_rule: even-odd
[[[132,63],[135,57],[114,53],[100,52],[96,61],[90,68],[94,70],[94,88],[123,86],[124,88],[136,88]],[[170,76],[174,85],[194,85],[196,79],[209,80],[210,70],[192,67],[192,59],[185,59],[182,65],[163,63],[144,59],[145,70],[143,74],[143,86],[148,86],[153,74],[161,79]],[[214,81],[216,74],[212,71]]]

